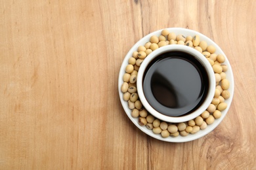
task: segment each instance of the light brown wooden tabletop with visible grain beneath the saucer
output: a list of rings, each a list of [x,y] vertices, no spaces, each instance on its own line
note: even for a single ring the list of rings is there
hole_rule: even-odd
[[[0,1],[0,169],[256,169],[256,1]],[[117,93],[125,54],[165,27],[232,65],[223,122],[188,143],[142,133]]]

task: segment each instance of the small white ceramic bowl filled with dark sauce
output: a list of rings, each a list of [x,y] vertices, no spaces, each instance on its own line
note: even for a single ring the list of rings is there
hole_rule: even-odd
[[[160,56],[160,54],[163,54],[165,52],[171,52],[171,51],[186,52],[186,53],[194,56],[194,58],[196,58],[198,61],[200,61],[200,63],[203,65],[203,67],[205,67],[205,70],[209,77],[209,93],[207,93],[207,96],[206,96],[205,100],[203,101],[202,105],[200,105],[200,107],[198,109],[194,110],[194,112],[191,112],[190,114],[186,114],[184,116],[177,116],[177,117],[166,116],[165,114],[162,114],[158,110],[155,110],[150,105],[150,103],[148,103],[148,100],[146,99],[146,97],[144,95],[144,90],[142,88],[142,79],[143,79],[143,75],[144,75],[144,72],[145,72],[148,64],[154,58],[156,58],[157,56]],[[213,100],[213,96],[215,93],[215,87],[216,87],[215,84],[216,84],[216,82],[215,82],[215,75],[213,72],[213,67],[211,67],[211,64],[205,58],[205,56],[203,56],[202,53],[198,52],[198,50],[195,50],[194,48],[191,48],[190,46],[177,45],[177,44],[162,46],[161,48],[158,48],[158,49],[154,50],[153,52],[151,52],[144,59],[142,64],[140,65],[140,69],[139,69],[138,76],[137,76],[137,91],[138,91],[142,105],[146,108],[146,110],[148,110],[148,112],[150,112],[156,118],[159,118],[160,120],[163,120],[165,122],[173,122],[173,123],[186,122],[186,121],[192,120],[192,119],[196,118],[197,116],[199,116],[200,114],[202,114],[202,112],[204,110],[206,110],[207,107],[209,107],[209,105],[211,104],[211,101]]]

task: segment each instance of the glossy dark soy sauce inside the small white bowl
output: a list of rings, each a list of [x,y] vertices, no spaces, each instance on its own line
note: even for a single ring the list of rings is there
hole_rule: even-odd
[[[173,51],[160,54],[149,63],[142,86],[155,110],[167,116],[184,116],[205,100],[209,78],[194,56]]]

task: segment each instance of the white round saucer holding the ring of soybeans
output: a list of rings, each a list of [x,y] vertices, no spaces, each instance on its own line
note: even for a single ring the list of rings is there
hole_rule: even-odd
[[[215,48],[216,48],[215,53],[216,54],[223,54],[223,56],[225,57],[224,64],[227,65],[227,67],[228,67],[228,71],[226,71],[225,73],[226,73],[226,79],[228,79],[229,82],[230,82],[230,88],[228,89],[228,91],[230,92],[230,97],[225,100],[225,103],[227,103],[228,106],[226,107],[225,110],[222,111],[221,118],[216,119],[215,122],[213,122],[213,124],[208,125],[206,129],[200,130],[195,134],[188,134],[186,137],[182,137],[181,135],[179,135],[178,137],[171,137],[170,136],[170,137],[167,137],[167,138],[163,138],[163,137],[161,137],[160,134],[153,133],[152,129],[148,129],[146,126],[140,126],[139,118],[133,118],[131,116],[131,109],[129,109],[127,101],[123,100],[123,93],[121,92],[121,85],[123,84],[123,74],[125,73],[125,67],[127,66],[128,60],[129,60],[129,58],[131,58],[133,52],[137,51],[137,48],[140,45],[144,46],[144,44],[146,44],[146,42],[148,42],[150,40],[150,37],[152,35],[156,35],[156,36],[161,35],[162,29],[158,30],[158,31],[154,31],[154,32],[146,35],[142,39],[140,39],[131,48],[131,50],[129,50],[129,52],[125,56],[125,59],[123,59],[123,63],[121,65],[121,69],[119,71],[119,78],[118,78],[119,97],[120,97],[121,105],[123,106],[123,109],[125,110],[125,113],[127,114],[127,116],[130,118],[130,120],[133,122],[133,124],[135,124],[135,126],[137,126],[141,131],[143,131],[147,135],[150,135],[151,137],[154,137],[155,139],[159,139],[161,141],[167,141],[167,142],[173,142],[173,143],[182,143],[182,142],[187,142],[187,141],[193,141],[193,140],[198,139],[200,137],[203,137],[204,135],[207,135],[207,133],[213,131],[213,129],[215,129],[215,127],[217,127],[221,123],[223,118],[226,116],[226,114],[228,112],[228,109],[230,108],[233,95],[234,95],[234,76],[233,76],[233,73],[232,73],[232,68],[230,66],[230,63],[229,63],[228,59],[226,58],[223,50],[221,50],[221,48],[215,42],[213,42],[211,39],[209,39],[208,37],[206,37],[202,33],[198,33],[197,31],[193,31],[191,29],[173,27],[173,28],[167,28],[167,30],[169,32],[175,33],[176,35],[182,34],[185,37],[188,36],[188,35],[190,35],[192,37],[194,35],[199,35],[200,36],[200,41],[206,41],[208,45],[215,46]],[[161,47],[161,48],[163,48],[163,47]]]

